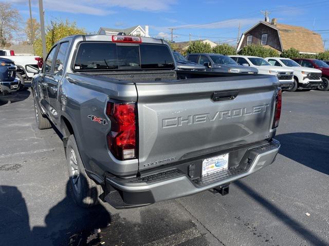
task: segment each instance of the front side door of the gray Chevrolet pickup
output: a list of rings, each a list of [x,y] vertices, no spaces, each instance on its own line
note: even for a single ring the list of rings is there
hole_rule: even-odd
[[[57,46],[54,46],[50,50],[50,52],[47,56],[47,59],[44,63],[44,66],[42,68],[41,78],[38,83],[40,105],[46,112],[48,112],[48,110],[49,110],[49,98],[48,98],[48,93],[47,93],[47,85],[48,85],[48,80],[51,77],[53,58],[56,54],[56,50],[57,50]]]

